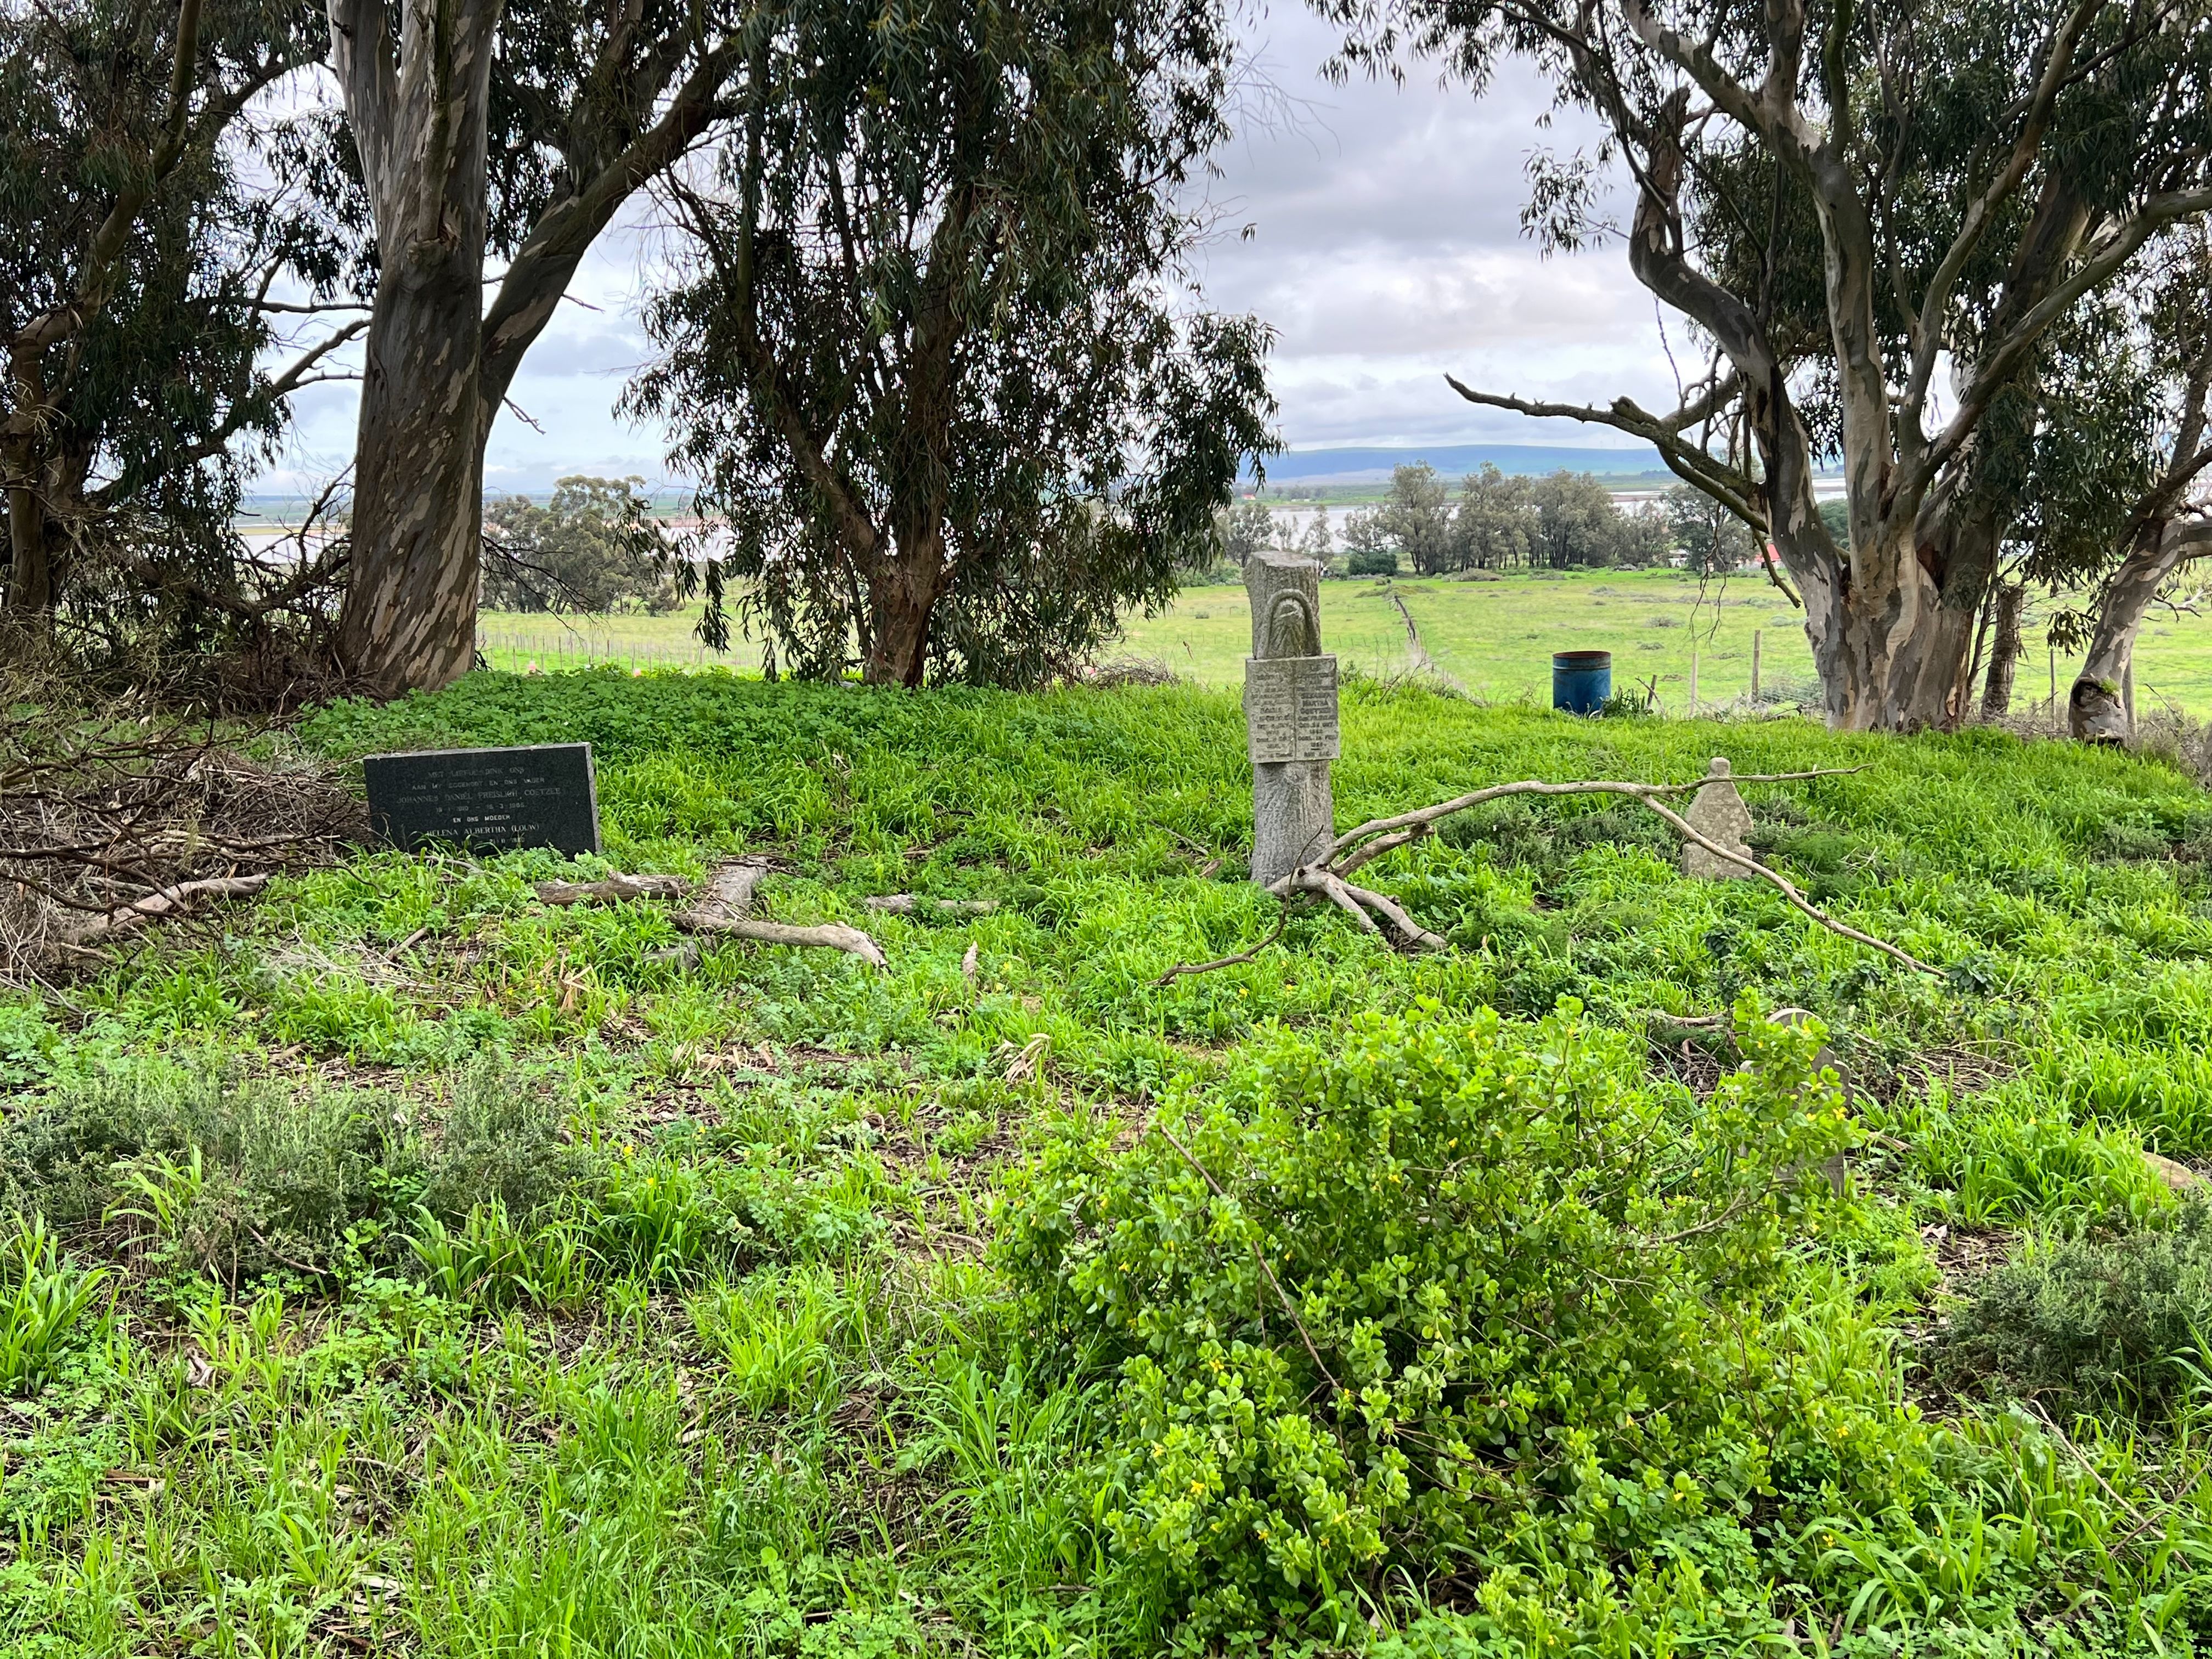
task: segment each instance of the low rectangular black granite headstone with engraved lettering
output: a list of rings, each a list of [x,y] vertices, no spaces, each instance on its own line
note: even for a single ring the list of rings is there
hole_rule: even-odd
[[[398,847],[599,852],[591,743],[369,754],[369,818]]]

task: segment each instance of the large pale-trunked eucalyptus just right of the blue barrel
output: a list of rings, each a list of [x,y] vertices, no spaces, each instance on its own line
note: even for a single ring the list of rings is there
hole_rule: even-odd
[[[1843,728],[1964,714],[2011,504],[1982,429],[2051,330],[2168,226],[2212,208],[2203,0],[1347,0],[1352,55],[1506,55],[1593,113],[1601,144],[1533,168],[1551,246],[1604,234],[1626,166],[1628,263],[1712,347],[1681,405],[1584,407],[1659,447],[1803,593]],[[1940,383],[1947,374],[1949,385]],[[1845,473],[1845,538],[1816,458]],[[1792,595],[1796,597],[1796,595]]]

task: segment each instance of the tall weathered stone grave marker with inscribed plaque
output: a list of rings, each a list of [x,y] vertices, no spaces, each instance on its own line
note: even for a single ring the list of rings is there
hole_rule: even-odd
[[[1336,657],[1321,650],[1321,566],[1261,549],[1245,560],[1252,655],[1245,748],[1252,754],[1252,880],[1281,880],[1336,836]]]

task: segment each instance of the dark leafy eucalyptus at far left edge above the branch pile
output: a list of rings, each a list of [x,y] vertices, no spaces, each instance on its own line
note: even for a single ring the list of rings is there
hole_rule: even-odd
[[[234,586],[234,445],[345,334],[263,367],[276,279],[336,274],[259,153],[257,100],[321,53],[312,9],[261,0],[0,9],[0,617]]]

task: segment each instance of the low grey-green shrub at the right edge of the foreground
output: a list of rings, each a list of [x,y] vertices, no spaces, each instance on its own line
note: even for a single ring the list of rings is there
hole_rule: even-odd
[[[2031,1241],[1951,1318],[1955,1383],[2159,1411],[2212,1365],[2212,1201],[2172,1225]]]

